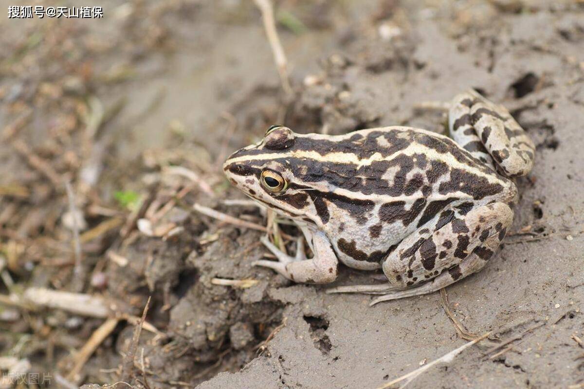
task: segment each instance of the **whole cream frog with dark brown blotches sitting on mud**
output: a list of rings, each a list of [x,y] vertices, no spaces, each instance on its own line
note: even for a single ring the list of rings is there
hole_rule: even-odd
[[[406,126],[325,135],[273,125],[233,153],[228,180],[302,232],[294,256],[262,237],[277,260],[252,265],[313,284],[335,281],[339,262],[381,269],[384,283],[327,290],[377,295],[371,305],[482,269],[512,226],[516,177],[531,171],[535,147],[505,107],[476,90],[455,96],[448,116],[450,137]]]

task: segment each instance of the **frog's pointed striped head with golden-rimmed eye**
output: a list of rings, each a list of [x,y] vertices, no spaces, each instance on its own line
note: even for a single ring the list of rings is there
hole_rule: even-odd
[[[296,220],[319,224],[311,192],[317,183],[305,182],[314,161],[305,154],[305,135],[273,125],[262,141],[237,150],[223,164],[225,176],[246,195]]]

